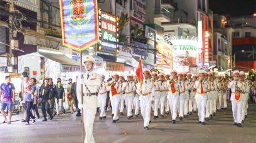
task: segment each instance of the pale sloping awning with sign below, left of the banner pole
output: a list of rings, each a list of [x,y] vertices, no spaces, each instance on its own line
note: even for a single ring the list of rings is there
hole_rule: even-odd
[[[45,52],[39,52],[39,54],[52,61],[61,63],[62,64],[61,72],[80,72],[80,63],[70,59],[65,55],[45,53]],[[84,71],[84,67],[83,67],[83,71]]]

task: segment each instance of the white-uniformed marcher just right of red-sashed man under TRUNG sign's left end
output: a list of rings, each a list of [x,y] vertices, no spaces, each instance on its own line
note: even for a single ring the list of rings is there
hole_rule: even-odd
[[[186,82],[183,80],[183,73],[178,72],[177,74],[178,76],[178,83],[180,83],[180,88],[179,88],[179,92],[180,92],[180,96],[179,96],[179,102],[177,105],[178,108],[178,112],[179,112],[179,116],[180,116],[180,120],[182,120],[183,116],[184,116],[184,106],[185,106],[185,100],[187,98],[186,96],[186,91],[187,89],[187,84]]]

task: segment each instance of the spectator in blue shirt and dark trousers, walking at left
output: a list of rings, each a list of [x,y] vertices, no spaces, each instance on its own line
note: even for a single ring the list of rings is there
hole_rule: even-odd
[[[28,90],[26,88],[24,88],[24,82],[22,82],[22,93],[25,93],[26,92],[26,99],[25,99],[25,110],[26,110],[26,113],[27,113],[27,118],[26,118],[26,124],[25,125],[29,125],[29,120],[30,118],[32,118],[32,122],[34,123],[36,118],[35,116],[33,116],[33,114],[31,113],[31,109],[32,109],[32,106],[33,106],[33,103],[34,103],[34,98],[35,98],[35,95],[34,95],[34,92],[36,90],[36,87],[34,86],[35,84],[35,79],[32,78],[31,81],[29,82],[29,85],[31,86],[31,88]]]

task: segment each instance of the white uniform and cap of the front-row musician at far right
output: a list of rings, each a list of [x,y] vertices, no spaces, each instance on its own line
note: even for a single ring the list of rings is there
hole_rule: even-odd
[[[240,73],[238,70],[235,70],[233,72],[233,76],[234,75],[239,75],[240,76]],[[240,99],[239,99],[239,96],[235,96],[235,92],[236,92],[236,89],[235,89],[235,85],[237,85],[241,90],[242,90],[242,93],[245,92],[245,83],[242,82],[242,81],[231,81],[228,85],[228,88],[231,88],[231,103],[232,103],[232,112],[233,112],[233,117],[234,117],[234,122],[236,124],[241,124],[242,122],[242,105],[243,105],[243,101],[241,100],[243,94],[240,94]],[[237,125],[238,126],[238,125]]]

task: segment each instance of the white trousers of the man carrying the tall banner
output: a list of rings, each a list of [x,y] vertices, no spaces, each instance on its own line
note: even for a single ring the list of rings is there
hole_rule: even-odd
[[[94,143],[95,140],[93,138],[93,124],[94,118],[96,114],[95,109],[86,109],[83,108],[83,121],[84,121],[84,129],[86,130],[86,138],[84,139],[85,143]]]

